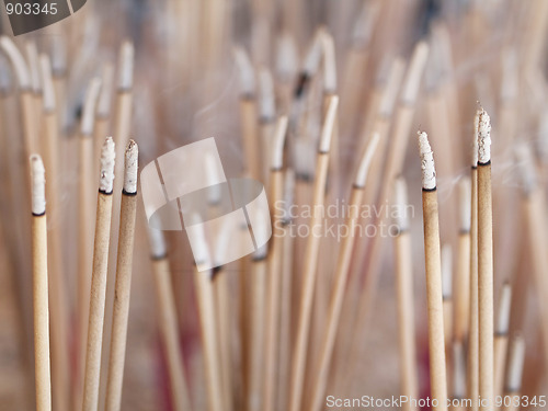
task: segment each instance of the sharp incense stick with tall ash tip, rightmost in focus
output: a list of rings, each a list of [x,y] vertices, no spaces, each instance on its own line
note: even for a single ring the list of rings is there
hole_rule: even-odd
[[[493,389],[493,204],[491,193],[491,124],[481,111],[478,128],[478,319],[480,409],[491,410]]]

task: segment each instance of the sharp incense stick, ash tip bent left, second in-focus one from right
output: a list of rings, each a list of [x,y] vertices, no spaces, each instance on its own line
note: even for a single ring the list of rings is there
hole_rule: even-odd
[[[437,212],[434,157],[426,133],[419,134],[422,162],[422,209],[424,219],[424,258],[426,266],[426,298],[429,307],[430,385],[433,410],[447,410],[447,377],[442,296],[442,259]]]

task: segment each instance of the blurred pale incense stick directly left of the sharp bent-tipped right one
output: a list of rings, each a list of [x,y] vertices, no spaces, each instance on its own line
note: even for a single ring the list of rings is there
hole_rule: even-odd
[[[398,236],[396,247],[396,285],[398,301],[398,346],[400,354],[401,395],[418,398],[419,370],[416,367],[416,349],[414,332],[413,272],[411,255],[411,235],[409,233],[409,217],[407,216],[407,186],[403,179],[396,180],[396,206],[398,210]],[[403,403],[403,410],[413,411],[411,401]]]

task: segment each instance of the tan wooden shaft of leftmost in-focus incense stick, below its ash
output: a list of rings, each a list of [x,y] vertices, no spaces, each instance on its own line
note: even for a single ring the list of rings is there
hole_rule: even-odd
[[[52,410],[46,216],[33,216],[33,308],[36,410]]]

